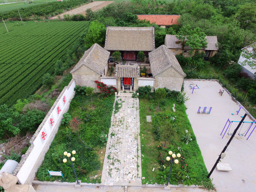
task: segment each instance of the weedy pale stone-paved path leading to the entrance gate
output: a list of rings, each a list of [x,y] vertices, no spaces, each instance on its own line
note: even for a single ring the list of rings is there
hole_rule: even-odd
[[[141,186],[139,99],[117,95],[121,107],[111,117],[101,182],[103,185]]]

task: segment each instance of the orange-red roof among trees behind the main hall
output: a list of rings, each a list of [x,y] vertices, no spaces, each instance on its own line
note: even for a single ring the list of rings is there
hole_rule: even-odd
[[[150,23],[156,23],[156,25],[170,26],[178,25],[178,19],[180,15],[137,15],[139,20],[150,21]]]

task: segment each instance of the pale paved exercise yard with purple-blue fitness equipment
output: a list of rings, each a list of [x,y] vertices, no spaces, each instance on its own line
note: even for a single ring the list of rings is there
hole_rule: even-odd
[[[246,112],[218,81],[185,79],[184,91],[189,97],[185,103],[187,115],[206,168],[210,172],[241,121],[241,116]],[[255,119],[249,114],[245,117],[244,123],[225,151],[226,157],[221,159],[220,163],[226,165],[222,167],[223,170],[231,170],[218,171],[215,168],[211,174],[210,178],[213,179],[217,191],[256,190],[256,123],[254,121]]]

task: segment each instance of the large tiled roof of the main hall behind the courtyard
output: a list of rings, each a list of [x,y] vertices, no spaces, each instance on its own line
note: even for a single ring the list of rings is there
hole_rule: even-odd
[[[154,27],[107,27],[104,48],[108,51],[153,51]]]

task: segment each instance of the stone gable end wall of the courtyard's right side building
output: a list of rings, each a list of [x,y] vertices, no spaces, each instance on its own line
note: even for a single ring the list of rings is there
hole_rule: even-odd
[[[171,91],[181,91],[183,77],[173,68],[169,68],[154,77],[156,79],[155,88],[166,87]]]

